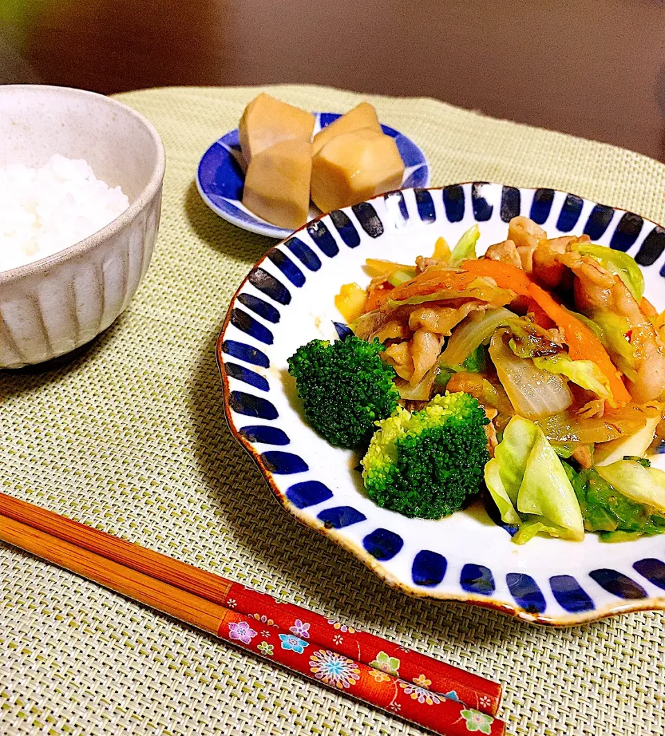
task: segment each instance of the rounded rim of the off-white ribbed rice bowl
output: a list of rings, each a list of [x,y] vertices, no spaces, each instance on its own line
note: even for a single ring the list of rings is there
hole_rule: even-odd
[[[96,233],[84,238],[83,240],[71,245],[63,250],[53,253],[52,255],[46,256],[46,258],[40,258],[38,261],[32,261],[32,263],[24,263],[22,266],[16,266],[13,269],[0,272],[0,286],[5,286],[9,283],[20,281],[31,275],[40,274],[40,272],[46,272],[51,266],[60,266],[62,263],[67,261],[74,261],[82,255],[92,251],[96,246],[106,241],[108,238],[117,235],[124,230],[124,227],[132,222],[138,215],[138,213],[145,208],[146,204],[150,202],[160,187],[163,184],[164,172],[166,171],[166,152],[164,150],[164,144],[160,138],[160,134],[154,125],[146,118],[141,115],[137,110],[129,105],[124,105],[117,99],[107,97],[97,92],[91,92],[89,90],[82,90],[74,87],[62,87],[57,85],[3,85],[0,87],[0,99],[5,92],[12,91],[26,91],[28,93],[33,92],[50,92],[60,94],[62,96],[74,96],[82,99],[96,99],[101,102],[102,105],[110,105],[121,110],[124,115],[138,120],[139,123],[147,130],[155,146],[155,158],[152,165],[152,174],[150,174],[149,180],[143,187],[138,197],[132,202],[129,207],[124,210],[123,213],[118,215],[109,224],[104,225],[101,230],[97,230]]]

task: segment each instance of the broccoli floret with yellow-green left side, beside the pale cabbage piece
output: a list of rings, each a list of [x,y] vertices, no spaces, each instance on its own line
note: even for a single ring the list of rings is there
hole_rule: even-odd
[[[363,458],[363,480],[378,506],[408,517],[440,519],[483,482],[488,419],[463,392],[435,396],[411,414],[399,406],[379,422]]]

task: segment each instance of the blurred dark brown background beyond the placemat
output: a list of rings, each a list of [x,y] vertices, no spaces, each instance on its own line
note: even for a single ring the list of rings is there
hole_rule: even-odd
[[[665,160],[662,0],[0,0],[0,82],[431,96]]]

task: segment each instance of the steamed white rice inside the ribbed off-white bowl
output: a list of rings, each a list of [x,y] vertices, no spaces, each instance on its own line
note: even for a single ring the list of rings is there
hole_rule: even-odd
[[[0,169],[0,271],[38,261],[101,230],[129,207],[90,164],[54,155],[41,169]]]

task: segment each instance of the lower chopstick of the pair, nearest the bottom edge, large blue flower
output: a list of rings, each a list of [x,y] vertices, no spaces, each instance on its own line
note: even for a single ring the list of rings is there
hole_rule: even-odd
[[[468,736],[469,731],[490,736],[505,733],[505,723],[486,713],[319,648],[277,626],[263,629],[253,618],[171,586],[155,574],[138,573],[1,514],[0,540],[442,736]]]

